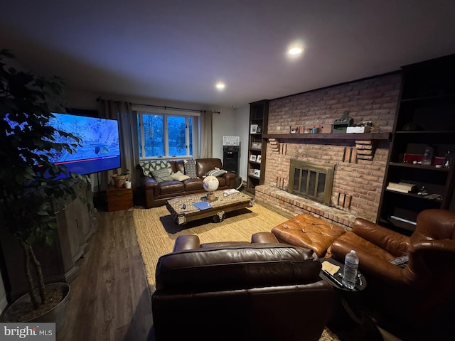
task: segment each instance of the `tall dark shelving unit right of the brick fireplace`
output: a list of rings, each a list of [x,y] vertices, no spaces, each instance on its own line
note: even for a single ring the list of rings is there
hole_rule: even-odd
[[[378,222],[412,233],[422,210],[455,210],[454,167],[437,168],[448,150],[455,151],[455,55],[402,67],[400,104],[392,132]],[[406,155],[422,156],[434,148],[432,165],[407,162]],[[455,157],[455,156],[454,156]],[[416,193],[387,190],[389,182],[417,185]],[[422,193],[422,187],[427,195]]]

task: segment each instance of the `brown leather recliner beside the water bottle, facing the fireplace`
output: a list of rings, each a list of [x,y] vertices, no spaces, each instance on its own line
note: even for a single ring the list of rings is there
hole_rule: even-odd
[[[368,281],[366,303],[416,330],[448,326],[455,312],[455,212],[420,212],[410,237],[358,218],[352,231],[333,242],[331,253],[343,261],[351,249]],[[404,267],[390,263],[404,255]]]

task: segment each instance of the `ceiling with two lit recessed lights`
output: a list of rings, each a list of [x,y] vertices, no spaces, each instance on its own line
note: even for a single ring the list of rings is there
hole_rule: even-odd
[[[15,0],[0,48],[75,90],[236,108],[455,53],[455,1]]]

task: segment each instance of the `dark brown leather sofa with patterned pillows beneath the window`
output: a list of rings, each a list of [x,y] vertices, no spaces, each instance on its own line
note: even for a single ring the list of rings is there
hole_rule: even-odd
[[[177,171],[185,173],[183,160],[169,160],[169,163],[171,163],[173,173]],[[198,158],[196,159],[196,175],[198,175],[198,178],[183,181],[168,180],[161,183],[156,181],[151,175],[144,175],[140,165],[137,165],[136,168],[141,174],[141,186],[144,188],[146,207],[151,208],[165,205],[166,201],[173,197],[205,192],[202,185],[203,175],[215,168],[223,169],[223,164],[219,158]],[[217,178],[220,182],[218,190],[236,187],[236,175],[234,173],[228,172]]]

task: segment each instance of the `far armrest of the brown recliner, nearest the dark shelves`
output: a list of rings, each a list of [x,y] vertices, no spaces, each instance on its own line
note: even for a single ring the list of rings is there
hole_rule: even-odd
[[[355,220],[353,232],[395,256],[402,256],[408,253],[410,237],[363,218]]]

